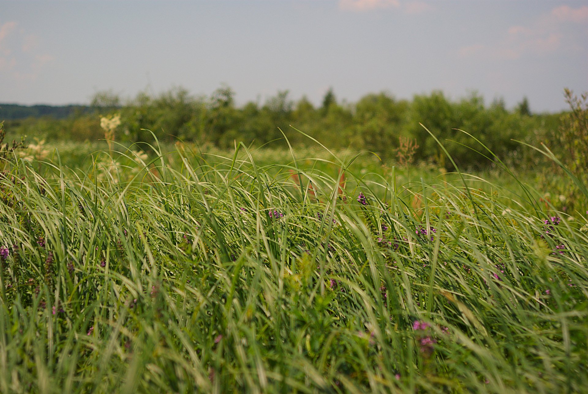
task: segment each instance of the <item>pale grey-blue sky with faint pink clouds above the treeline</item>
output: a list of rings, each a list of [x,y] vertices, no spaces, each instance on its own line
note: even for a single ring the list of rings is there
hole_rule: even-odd
[[[184,87],[236,103],[473,92],[533,112],[588,91],[588,1],[0,0],[0,103]]]

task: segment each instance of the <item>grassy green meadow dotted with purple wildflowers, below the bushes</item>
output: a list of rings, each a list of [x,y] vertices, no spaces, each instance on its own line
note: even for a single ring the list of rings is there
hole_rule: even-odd
[[[2,393],[588,392],[588,207],[528,172],[319,145],[2,165]]]

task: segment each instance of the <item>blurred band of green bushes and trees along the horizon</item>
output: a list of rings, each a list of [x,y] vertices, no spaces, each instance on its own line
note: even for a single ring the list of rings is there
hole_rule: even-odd
[[[278,92],[263,105],[249,102],[242,107],[235,106],[233,96],[228,87],[216,90],[211,97],[193,97],[184,89],[172,89],[159,96],[141,93],[128,102],[112,93],[99,93],[91,105],[93,113],[80,110],[61,120],[11,120],[6,129],[47,141],[95,140],[103,135],[97,115],[120,113],[122,123],[116,137],[120,142],[151,142],[153,132],[162,142],[182,140],[226,148],[233,147],[236,141],[262,146],[282,139],[281,129],[294,146],[308,145],[310,140],[293,132],[292,125],[319,141],[329,142],[331,148],[374,151],[384,159],[395,158],[402,144],[410,141],[415,147],[415,160],[442,161],[443,166],[452,169],[419,123],[440,139],[452,140],[446,144],[447,149],[463,167],[490,163],[464,146],[471,145],[471,140],[456,129],[467,130],[500,156],[519,161],[520,144],[513,140],[534,144],[552,140],[559,124],[559,115],[532,115],[526,99],[508,110],[501,100],[488,106],[483,97],[475,94],[454,101],[442,92],[432,92],[409,101],[382,92],[366,95],[357,103],[340,103],[329,90],[320,107],[305,98],[293,102],[287,91]]]

